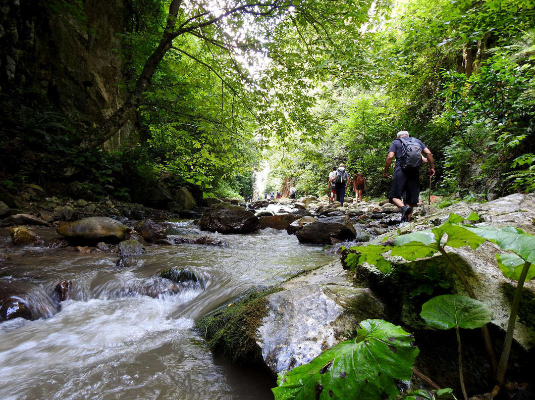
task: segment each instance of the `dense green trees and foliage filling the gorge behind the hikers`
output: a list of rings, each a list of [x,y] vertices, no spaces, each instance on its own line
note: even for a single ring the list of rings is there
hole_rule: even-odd
[[[84,18],[80,2],[43,4]],[[104,125],[82,129],[32,103],[24,82],[2,88],[7,190],[51,188],[70,168],[98,197],[128,199],[140,180],[248,196],[267,160],[262,193],[291,182],[299,195],[325,194],[343,162],[365,175],[368,196],[383,196],[400,129],[433,152],[434,193],[535,188],[532,0],[128,4],[128,96]],[[110,151],[105,141],[132,119],[139,136]]]

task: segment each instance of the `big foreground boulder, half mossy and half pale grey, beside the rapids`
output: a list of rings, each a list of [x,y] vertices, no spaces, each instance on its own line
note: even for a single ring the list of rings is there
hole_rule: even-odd
[[[358,323],[386,318],[369,289],[354,288],[340,262],[299,274],[278,288],[254,288],[197,324],[212,351],[265,363],[273,375],[355,337]]]

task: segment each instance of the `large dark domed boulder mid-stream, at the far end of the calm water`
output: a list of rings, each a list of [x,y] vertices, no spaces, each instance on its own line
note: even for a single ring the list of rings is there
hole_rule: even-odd
[[[260,227],[258,217],[239,205],[213,204],[204,212],[200,221],[201,230],[219,233],[250,233]]]

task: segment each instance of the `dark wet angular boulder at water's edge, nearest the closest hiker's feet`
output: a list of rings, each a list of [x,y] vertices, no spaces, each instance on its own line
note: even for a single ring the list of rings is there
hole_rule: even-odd
[[[311,222],[295,233],[300,243],[332,244],[331,237],[342,241],[355,239],[355,227],[347,216],[327,217]]]

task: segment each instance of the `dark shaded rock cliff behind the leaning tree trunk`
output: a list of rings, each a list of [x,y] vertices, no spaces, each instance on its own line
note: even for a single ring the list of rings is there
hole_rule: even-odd
[[[64,112],[77,128],[102,124],[124,96],[124,48],[118,34],[130,20],[127,4],[0,0],[0,94],[22,88],[35,95],[30,101]],[[133,124],[108,147],[125,144],[131,136],[135,142]]]

